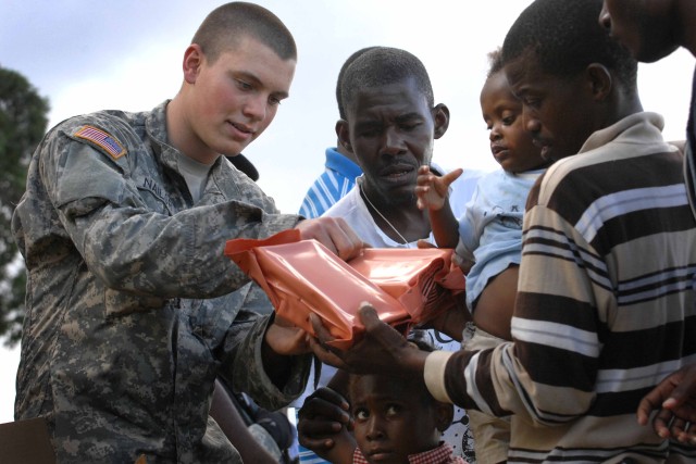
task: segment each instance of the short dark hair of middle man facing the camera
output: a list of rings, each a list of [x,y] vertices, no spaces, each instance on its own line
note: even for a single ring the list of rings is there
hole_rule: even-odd
[[[360,90],[414,79],[418,90],[433,108],[433,86],[425,66],[415,55],[406,50],[374,47],[356,59],[343,77],[341,99],[348,110]]]

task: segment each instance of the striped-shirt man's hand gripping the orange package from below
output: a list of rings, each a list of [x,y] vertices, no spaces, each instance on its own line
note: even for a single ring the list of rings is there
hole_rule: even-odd
[[[334,338],[321,319],[310,314],[316,338],[310,338],[314,354],[326,364],[359,374],[384,374],[397,377],[423,375],[427,353],[409,343],[401,334],[377,317],[369,303],[362,303],[359,316],[365,327],[363,338],[347,351],[328,349]]]

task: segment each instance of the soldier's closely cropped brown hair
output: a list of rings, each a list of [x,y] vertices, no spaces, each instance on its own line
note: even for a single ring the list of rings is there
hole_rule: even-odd
[[[249,36],[266,45],[282,60],[297,60],[297,46],[285,24],[265,8],[248,2],[225,3],[210,12],[191,43],[199,45],[208,60],[214,62]]]

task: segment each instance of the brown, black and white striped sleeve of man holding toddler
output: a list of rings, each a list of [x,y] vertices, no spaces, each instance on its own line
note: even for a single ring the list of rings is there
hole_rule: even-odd
[[[614,296],[593,279],[593,266],[601,265],[594,248],[572,223],[537,204],[538,196],[533,189],[524,218],[511,323],[514,341],[480,351],[475,358],[459,351],[433,360],[428,388],[446,392],[463,407],[557,425],[584,415],[597,398],[602,350],[598,301],[610,302]],[[562,203],[559,198],[555,201]],[[554,241],[547,243],[550,231]],[[567,243],[586,252],[569,261]],[[543,252],[536,252],[539,247]],[[562,368],[549,371],[551,363]]]

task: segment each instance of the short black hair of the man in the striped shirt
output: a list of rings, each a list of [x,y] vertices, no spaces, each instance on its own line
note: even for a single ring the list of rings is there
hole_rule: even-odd
[[[602,0],[536,0],[508,32],[502,65],[530,54],[540,71],[572,77],[592,63],[612,71],[624,91],[636,91],[637,62],[599,22]]]

